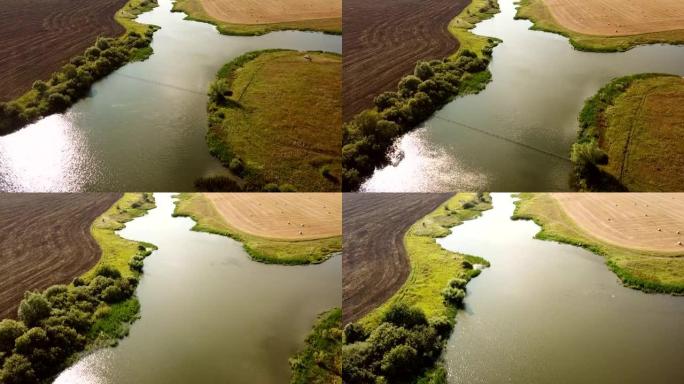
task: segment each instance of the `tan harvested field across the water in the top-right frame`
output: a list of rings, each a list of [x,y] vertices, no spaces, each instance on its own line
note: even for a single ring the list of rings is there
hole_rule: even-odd
[[[586,35],[628,36],[684,29],[682,0],[544,0],[563,27]]]

